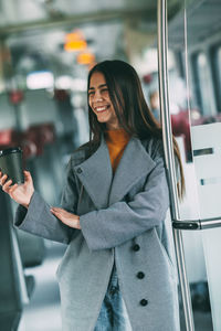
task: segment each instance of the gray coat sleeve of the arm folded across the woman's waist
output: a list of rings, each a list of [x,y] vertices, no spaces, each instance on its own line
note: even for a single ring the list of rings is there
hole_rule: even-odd
[[[148,174],[144,191],[129,202],[116,202],[107,209],[80,217],[90,249],[112,248],[160,225],[169,206],[169,192],[162,156]]]

